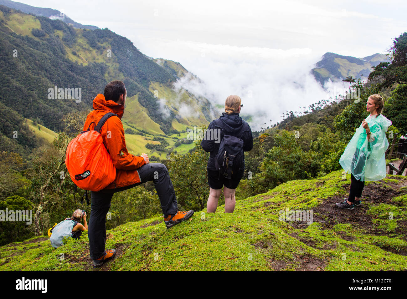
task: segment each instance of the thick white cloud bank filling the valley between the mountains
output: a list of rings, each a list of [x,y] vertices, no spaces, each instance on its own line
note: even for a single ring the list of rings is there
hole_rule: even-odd
[[[162,44],[184,49],[184,67],[201,79],[188,74],[174,84],[175,90],[188,89],[221,105],[230,94],[239,95],[244,104],[241,114],[253,116],[250,125],[254,130],[264,123],[280,122],[286,110],[300,111],[299,107],[330,97],[310,74],[321,57],[309,48],[281,50],[164,40]],[[329,84],[325,88],[340,86]]]

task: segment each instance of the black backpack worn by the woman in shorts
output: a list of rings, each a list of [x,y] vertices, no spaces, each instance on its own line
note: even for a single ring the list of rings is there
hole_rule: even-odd
[[[219,151],[215,157],[215,168],[219,171],[219,178],[222,174],[224,177],[232,179],[232,173],[237,173],[244,163],[243,140],[239,138],[244,126],[237,134],[239,137],[236,137],[225,135],[225,128],[219,118],[215,120],[215,123],[217,127],[222,129],[223,133],[221,144],[219,144]]]

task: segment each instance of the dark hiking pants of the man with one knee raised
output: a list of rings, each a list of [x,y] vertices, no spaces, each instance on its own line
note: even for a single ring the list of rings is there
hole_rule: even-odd
[[[90,258],[96,260],[105,254],[106,244],[106,215],[109,212],[113,194],[136,187],[147,181],[153,181],[155,190],[160,198],[164,215],[178,212],[177,199],[168,169],[161,163],[144,164],[137,169],[141,182],[118,189],[91,191],[90,220],[88,225]]]

